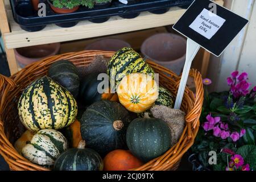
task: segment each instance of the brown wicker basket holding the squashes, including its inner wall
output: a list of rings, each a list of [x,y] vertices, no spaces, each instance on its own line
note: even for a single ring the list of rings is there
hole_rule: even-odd
[[[68,59],[77,67],[86,67],[96,55],[111,57],[114,52],[105,51],[81,51],[65,53],[48,57],[42,61],[30,64],[15,75],[5,77],[0,75],[0,154],[5,158],[13,170],[48,170],[36,164],[32,164],[23,156],[19,155],[13,147],[13,143],[24,132],[24,127],[19,121],[17,103],[26,86],[36,78],[47,74],[49,65],[54,61]],[[160,85],[168,88],[176,96],[179,88],[180,77],[168,69],[147,60],[148,64],[159,73]],[[164,155],[144,164],[134,170],[175,170],[183,154],[192,146],[199,129],[199,117],[203,105],[203,84],[199,72],[191,69],[190,76],[195,80],[196,94],[188,88],[185,89],[181,110],[186,113],[186,126],[178,143]]]

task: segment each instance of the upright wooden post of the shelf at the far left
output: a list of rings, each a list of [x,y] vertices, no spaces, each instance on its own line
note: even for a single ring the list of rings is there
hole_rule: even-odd
[[[0,29],[1,29],[2,35],[6,34],[7,32],[10,32],[6,9],[5,9],[5,3],[3,1],[0,1]],[[11,75],[13,75],[15,72],[18,71],[18,65],[16,63],[14,50],[6,48],[5,36],[3,36],[3,42],[5,43],[5,51],[6,51],[7,61],[9,64],[9,69],[10,69]]]

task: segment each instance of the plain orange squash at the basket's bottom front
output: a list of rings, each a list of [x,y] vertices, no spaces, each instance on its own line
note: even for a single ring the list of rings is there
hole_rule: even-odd
[[[104,158],[104,171],[126,171],[143,165],[129,150],[114,150]]]

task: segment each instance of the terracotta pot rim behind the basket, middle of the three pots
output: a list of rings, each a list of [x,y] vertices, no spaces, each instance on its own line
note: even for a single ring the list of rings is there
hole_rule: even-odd
[[[131,45],[120,39],[109,38],[90,43],[85,47],[85,50],[118,51],[123,47],[131,47]]]

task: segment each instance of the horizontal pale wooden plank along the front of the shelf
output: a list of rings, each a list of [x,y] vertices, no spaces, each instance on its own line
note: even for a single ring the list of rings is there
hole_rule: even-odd
[[[65,42],[69,40],[93,38],[97,36],[119,34],[122,32],[130,32],[174,24],[184,13],[184,11],[184,9],[174,7],[167,13],[160,15],[143,12],[134,19],[123,19],[119,16],[113,16],[104,23],[83,21],[70,28],[61,28],[51,24],[40,32],[27,32],[21,30],[18,27],[18,24],[11,21],[11,30],[13,30],[13,32],[6,33],[4,36],[6,38],[7,48]]]

